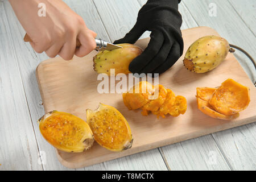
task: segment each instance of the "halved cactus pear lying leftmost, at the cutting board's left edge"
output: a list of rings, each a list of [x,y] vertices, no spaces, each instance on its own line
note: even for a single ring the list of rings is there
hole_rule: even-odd
[[[75,115],[53,110],[38,121],[43,137],[59,150],[82,152],[94,142],[89,125]]]

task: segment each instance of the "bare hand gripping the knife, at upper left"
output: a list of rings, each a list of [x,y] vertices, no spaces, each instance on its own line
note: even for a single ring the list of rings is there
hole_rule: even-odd
[[[84,20],[61,0],[9,0],[24,30],[30,36],[32,48],[49,57],[60,55],[71,60],[96,48],[96,33],[86,27]],[[46,16],[38,16],[38,5],[46,5]],[[76,48],[76,40],[81,46]]]

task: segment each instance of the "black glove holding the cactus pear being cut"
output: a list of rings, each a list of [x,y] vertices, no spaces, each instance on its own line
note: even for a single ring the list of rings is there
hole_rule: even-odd
[[[151,31],[150,42],[141,55],[131,61],[132,73],[163,73],[179,59],[183,53],[183,39],[178,11],[180,0],[148,0],[139,10],[137,22],[124,38],[114,44],[134,44],[144,33]]]

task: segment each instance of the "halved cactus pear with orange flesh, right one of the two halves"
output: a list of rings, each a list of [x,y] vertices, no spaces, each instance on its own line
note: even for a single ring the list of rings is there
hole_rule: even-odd
[[[133,138],[130,126],[117,109],[100,103],[94,111],[87,109],[86,115],[94,138],[102,147],[112,151],[131,148]]]

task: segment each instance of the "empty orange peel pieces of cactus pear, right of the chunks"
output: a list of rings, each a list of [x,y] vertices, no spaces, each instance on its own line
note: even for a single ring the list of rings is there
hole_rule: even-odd
[[[250,102],[249,88],[228,79],[218,88],[196,88],[197,106],[204,114],[218,119],[235,119]]]

